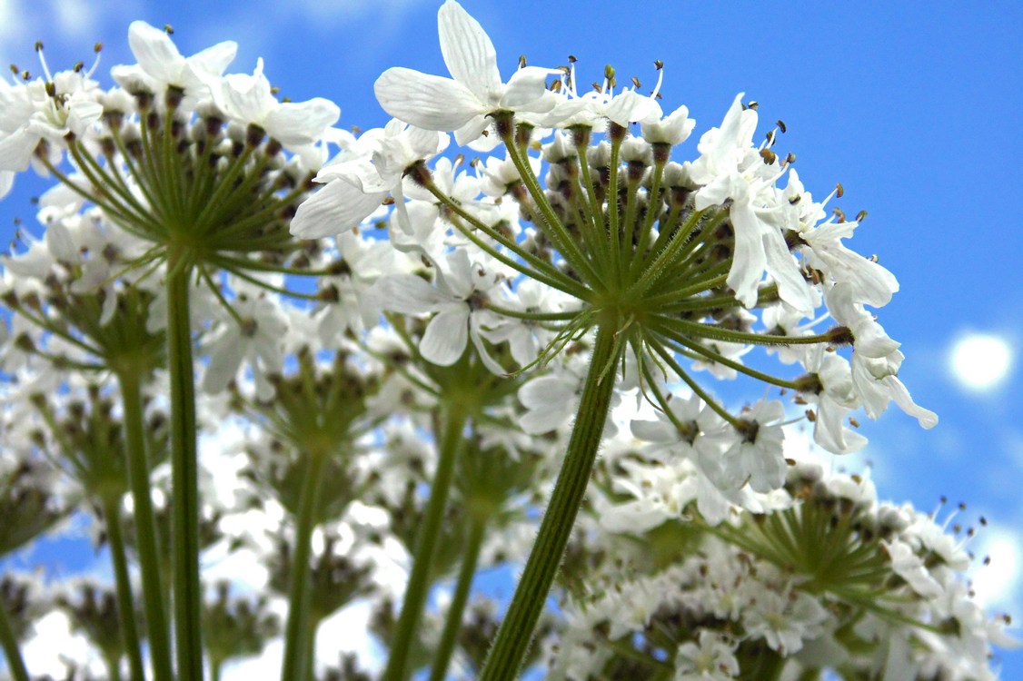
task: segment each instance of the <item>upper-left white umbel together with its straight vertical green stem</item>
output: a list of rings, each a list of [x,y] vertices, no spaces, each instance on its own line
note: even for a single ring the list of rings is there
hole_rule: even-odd
[[[128,258],[118,249],[89,253],[90,244],[76,243],[70,233],[61,234],[56,227],[48,231],[53,260],[60,265],[81,267],[75,261],[89,254],[81,291],[91,293],[105,285],[107,301],[113,302],[112,283],[131,288],[137,285],[134,279],[163,279],[158,292],[163,318],[150,319],[148,327],[160,328],[161,321],[166,326],[170,375],[177,673],[198,679],[202,586],[191,290],[196,284],[206,287],[233,317],[242,337],[258,337],[257,317],[239,314],[225,299],[222,273],[274,290],[267,274],[316,273],[301,264],[308,257],[288,234],[287,220],[327,153],[327,143],[341,142],[345,135],[331,131],[340,116],[332,102],[278,101],[263,76],[262,60],[251,76],[222,76],[234,57],[234,43],[185,58],[170,32],[169,27],[161,31],[142,21],[132,24],[129,42],[138,63],[116,66],[113,76],[121,87],[108,91],[92,80],[95,66],[51,75],[37,44],[44,77],[33,80],[25,72],[18,84],[2,90],[7,133],[3,155],[5,173],[34,165],[52,174],[78,194],[71,202],[73,211],[88,201],[110,223],[110,231],[142,244]],[[59,169],[65,156],[73,173]],[[93,266],[91,272],[88,265]],[[129,351],[99,357],[121,379],[125,408],[137,409],[129,403],[138,403],[138,381],[147,367],[132,358],[144,346],[132,349],[130,338],[120,340]],[[163,624],[161,577],[153,568],[155,531],[151,513],[144,510],[149,505],[148,468],[138,465],[144,459],[139,448],[131,450],[136,452],[132,478],[140,510],[139,538],[145,540],[138,546],[152,669],[155,678],[169,679],[174,668]]]

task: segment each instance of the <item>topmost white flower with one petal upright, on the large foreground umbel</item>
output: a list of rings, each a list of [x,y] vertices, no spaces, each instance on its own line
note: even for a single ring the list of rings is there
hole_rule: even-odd
[[[454,131],[458,144],[466,144],[490,125],[489,114],[554,107],[557,97],[547,90],[546,78],[559,72],[525,66],[502,83],[493,43],[461,5],[445,2],[437,22],[444,63],[454,78],[388,69],[373,85],[388,114],[426,130]]]

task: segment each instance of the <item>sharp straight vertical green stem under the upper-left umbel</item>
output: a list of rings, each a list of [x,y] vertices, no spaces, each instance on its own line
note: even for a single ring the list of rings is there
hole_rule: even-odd
[[[180,251],[168,258],[167,362],[171,378],[171,480],[173,513],[174,633],[179,679],[202,681],[203,585],[198,572],[198,452],[195,373],[188,280],[192,264]]]

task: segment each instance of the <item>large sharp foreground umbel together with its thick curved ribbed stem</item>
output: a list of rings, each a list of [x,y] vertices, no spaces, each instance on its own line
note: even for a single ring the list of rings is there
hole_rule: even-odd
[[[397,203],[393,222],[416,234],[404,198],[412,190],[403,190],[404,177],[432,194],[440,215],[472,244],[472,253],[578,301],[574,310],[560,312],[504,310],[479,290],[454,290],[445,274],[437,282],[438,298],[464,301],[471,330],[479,333],[474,311],[554,325],[558,334],[539,363],[595,330],[562,471],[481,676],[508,679],[519,672],[558,572],[599,448],[615,377],[627,355],[647,398],[669,418],[669,377],[684,382],[716,414],[714,437],[727,446],[703,456],[701,466],[707,484],[732,503],[741,503],[747,487],[766,493],[783,484],[782,405],[760,402],[732,414],[693,378],[683,358],[804,394],[819,412],[814,414],[817,442],[836,453],[862,446],[862,438],[842,423],[860,404],[876,417],[894,399],[925,427],[937,419],[908,397],[897,378],[898,344],[863,308],[885,305],[897,289],[894,277],[841,243],[855,222],[840,212],[821,222],[821,205],[790,172],[794,156],[772,150],[784,124],[754,145],[757,106],[744,104],[740,95],[721,125],[702,136],[699,157],[679,165],[671,160],[672,147],[688,137],[694,123],[685,107],[663,116],[657,100],[660,73],[651,96],[640,95],[638,86],[618,88],[610,66],[603,85],[585,94],[577,90],[574,64],[546,70],[522,61],[503,83],[493,45],[458,3],[445,2],[439,27],[453,78],[390,69],[376,81],[377,99],[396,119],[453,132],[460,144],[499,141],[505,158],[488,161],[483,174],[498,185],[497,196],[518,205],[535,232],[517,239],[494,221],[492,203],[452,195],[452,185],[438,184],[424,161],[411,160],[416,151],[436,152],[433,138],[414,128],[400,133],[407,136],[404,143],[397,142],[399,135],[385,133],[383,142],[376,136],[362,149],[356,147],[361,157],[325,169],[318,179],[326,186],[300,207],[292,229],[314,236],[354,226],[390,189]],[[660,62],[657,67],[660,72]],[[633,134],[635,123],[639,135]],[[530,150],[550,128],[553,140],[542,147],[549,164],[544,186]],[[429,143],[417,143],[420,139]],[[787,175],[787,186],[780,187]],[[353,207],[366,210],[357,215]],[[418,246],[437,262],[429,243]],[[486,269],[480,267],[481,273]],[[438,342],[441,320],[447,316],[448,332],[460,327],[463,333],[464,317],[428,307],[429,297],[417,287],[396,282],[387,291],[414,299],[422,312],[438,312],[422,336],[422,354],[450,363],[464,345]],[[800,325],[815,316],[821,302],[838,325],[822,332],[812,328],[814,322]],[[399,306],[402,312],[413,311],[410,305]],[[755,331],[755,310],[775,324]],[[791,353],[807,373],[783,378],[744,366],[735,349],[751,344]],[[850,346],[851,362],[834,354]],[[827,357],[816,350],[821,348],[829,351]],[[672,420],[679,438],[695,435],[690,424]],[[400,655],[392,649],[387,678],[403,678],[402,663],[394,662]]]

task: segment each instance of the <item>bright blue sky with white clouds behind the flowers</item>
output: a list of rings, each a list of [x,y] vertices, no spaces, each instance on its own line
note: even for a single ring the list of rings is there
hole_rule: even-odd
[[[365,129],[387,120],[372,97],[385,69],[446,74],[439,4],[0,0],[0,62],[38,72],[36,40],[53,69],[88,62],[99,40],[108,83],[110,65],[134,61],[130,20],[171,24],[182,53],[235,40],[231,71],[263,56],[282,94],[332,99],[341,125]],[[897,411],[861,419],[880,493],[925,509],[947,495],[969,505],[964,524],[987,516],[972,548],[993,561],[977,573],[978,588],[992,608],[1023,617],[1023,181],[1011,156],[1023,148],[1023,3],[463,4],[505,75],[520,54],[549,66],[573,54],[581,83],[611,63],[620,82],[636,76],[650,88],[654,59],[663,60],[665,109],[684,103],[697,121],[691,149],[746,92],[763,124],[785,121],[779,148],[796,153],[807,189],[824,196],[841,182],[845,212],[869,211],[851,245],[898,277],[880,321],[903,344],[900,377],[941,417],[930,432]],[[17,179],[0,202],[0,236],[9,238],[15,216],[32,223],[28,198],[45,186]],[[971,334],[993,337],[960,356],[960,365],[974,361],[970,371],[991,372],[986,384],[971,387],[954,369],[957,344]],[[1003,659],[1003,678],[1023,678],[1023,654]]]

